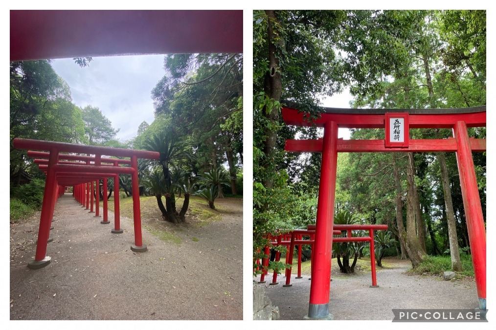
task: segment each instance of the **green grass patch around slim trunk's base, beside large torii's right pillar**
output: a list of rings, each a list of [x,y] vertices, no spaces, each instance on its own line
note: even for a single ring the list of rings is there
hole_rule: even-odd
[[[474,267],[472,256],[461,255],[463,271],[456,272],[457,277],[474,276]],[[436,275],[440,276],[443,272],[451,271],[450,256],[428,256],[417,267],[408,270],[409,274],[416,275]]]

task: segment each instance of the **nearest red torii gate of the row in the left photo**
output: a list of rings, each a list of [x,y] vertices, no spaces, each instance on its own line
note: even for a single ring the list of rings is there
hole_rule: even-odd
[[[117,174],[130,174],[132,181],[132,201],[133,201],[133,220],[134,220],[134,245],[131,245],[131,250],[136,252],[145,252],[147,247],[142,242],[141,237],[141,214],[139,209],[139,187],[138,187],[138,157],[144,159],[157,160],[160,157],[158,152],[132,150],[123,148],[87,146],[73,143],[62,143],[52,141],[39,141],[29,139],[15,138],[13,141],[14,148],[17,149],[30,149],[37,151],[48,151],[49,160],[46,170],[47,178],[45,181],[45,191],[43,195],[43,204],[41,209],[40,227],[38,230],[38,242],[36,246],[35,260],[28,263],[31,269],[39,269],[47,266],[51,258],[47,256],[47,245],[50,236],[51,220],[53,217],[55,202],[59,193],[58,182],[64,185],[77,185],[101,178],[114,176]],[[70,158],[69,155],[62,155],[61,152],[66,153],[80,153],[95,155],[93,165],[90,164],[93,158],[86,158],[85,165],[71,165],[60,163],[59,159]],[[113,157],[128,157],[130,158],[131,167],[120,167],[119,161],[115,160],[114,165],[103,166],[102,156]],[[76,161],[79,159],[75,159]],[[103,159],[105,160],[105,158]],[[44,165],[40,165],[44,166]],[[74,177],[73,175],[76,174]],[[118,181],[118,180],[116,180]],[[93,182],[93,181],[92,181]],[[119,193],[119,192],[118,192]],[[97,194],[99,197],[99,194]],[[86,195],[86,205],[88,205],[88,190]],[[91,193],[93,198],[93,193]],[[93,203],[92,203],[93,207]]]

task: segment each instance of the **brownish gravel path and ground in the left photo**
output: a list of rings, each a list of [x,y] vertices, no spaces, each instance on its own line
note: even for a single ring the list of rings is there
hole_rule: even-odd
[[[122,234],[79,206],[70,194],[56,205],[48,244],[52,262],[31,270],[39,214],[10,226],[11,320],[241,320],[241,200],[218,200],[222,220],[160,240],[143,228],[148,251],[134,253],[132,220]],[[192,240],[192,237],[195,239]]]

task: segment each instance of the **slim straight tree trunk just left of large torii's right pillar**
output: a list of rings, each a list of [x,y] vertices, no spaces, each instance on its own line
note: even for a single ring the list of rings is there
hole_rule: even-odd
[[[437,131],[439,133],[439,130]],[[458,237],[456,235],[456,222],[453,212],[453,201],[451,200],[451,188],[449,186],[448,169],[444,153],[437,154],[439,167],[441,168],[442,192],[444,194],[444,205],[446,207],[446,219],[448,222],[449,253],[451,255],[451,269],[455,272],[462,270],[460,251],[458,250]]]

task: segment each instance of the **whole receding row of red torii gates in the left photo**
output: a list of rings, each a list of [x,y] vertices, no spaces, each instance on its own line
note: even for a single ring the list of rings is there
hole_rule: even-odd
[[[36,243],[36,255],[35,260],[28,263],[29,268],[43,268],[51,262],[51,257],[47,256],[47,246],[50,240],[50,229],[52,227],[55,203],[67,186],[73,187],[74,198],[79,203],[83,206],[85,205],[87,209],[89,204],[91,204],[90,212],[93,212],[94,182],[98,182],[96,186],[99,186],[100,179],[103,179],[103,220],[101,222],[110,223],[107,214],[107,179],[113,177],[115,227],[112,229],[112,232],[123,232],[120,227],[119,217],[119,174],[131,175],[134,222],[134,244],[131,245],[131,251],[147,251],[147,247],[143,244],[141,237],[137,160],[138,158],[158,160],[160,157],[158,152],[20,138],[13,140],[13,146],[16,149],[29,150],[28,156],[35,158],[34,163],[38,164],[39,168],[47,175],[41,208],[38,241]],[[102,156],[129,159],[106,158]],[[100,188],[97,188],[97,190],[95,216],[99,216]]]

